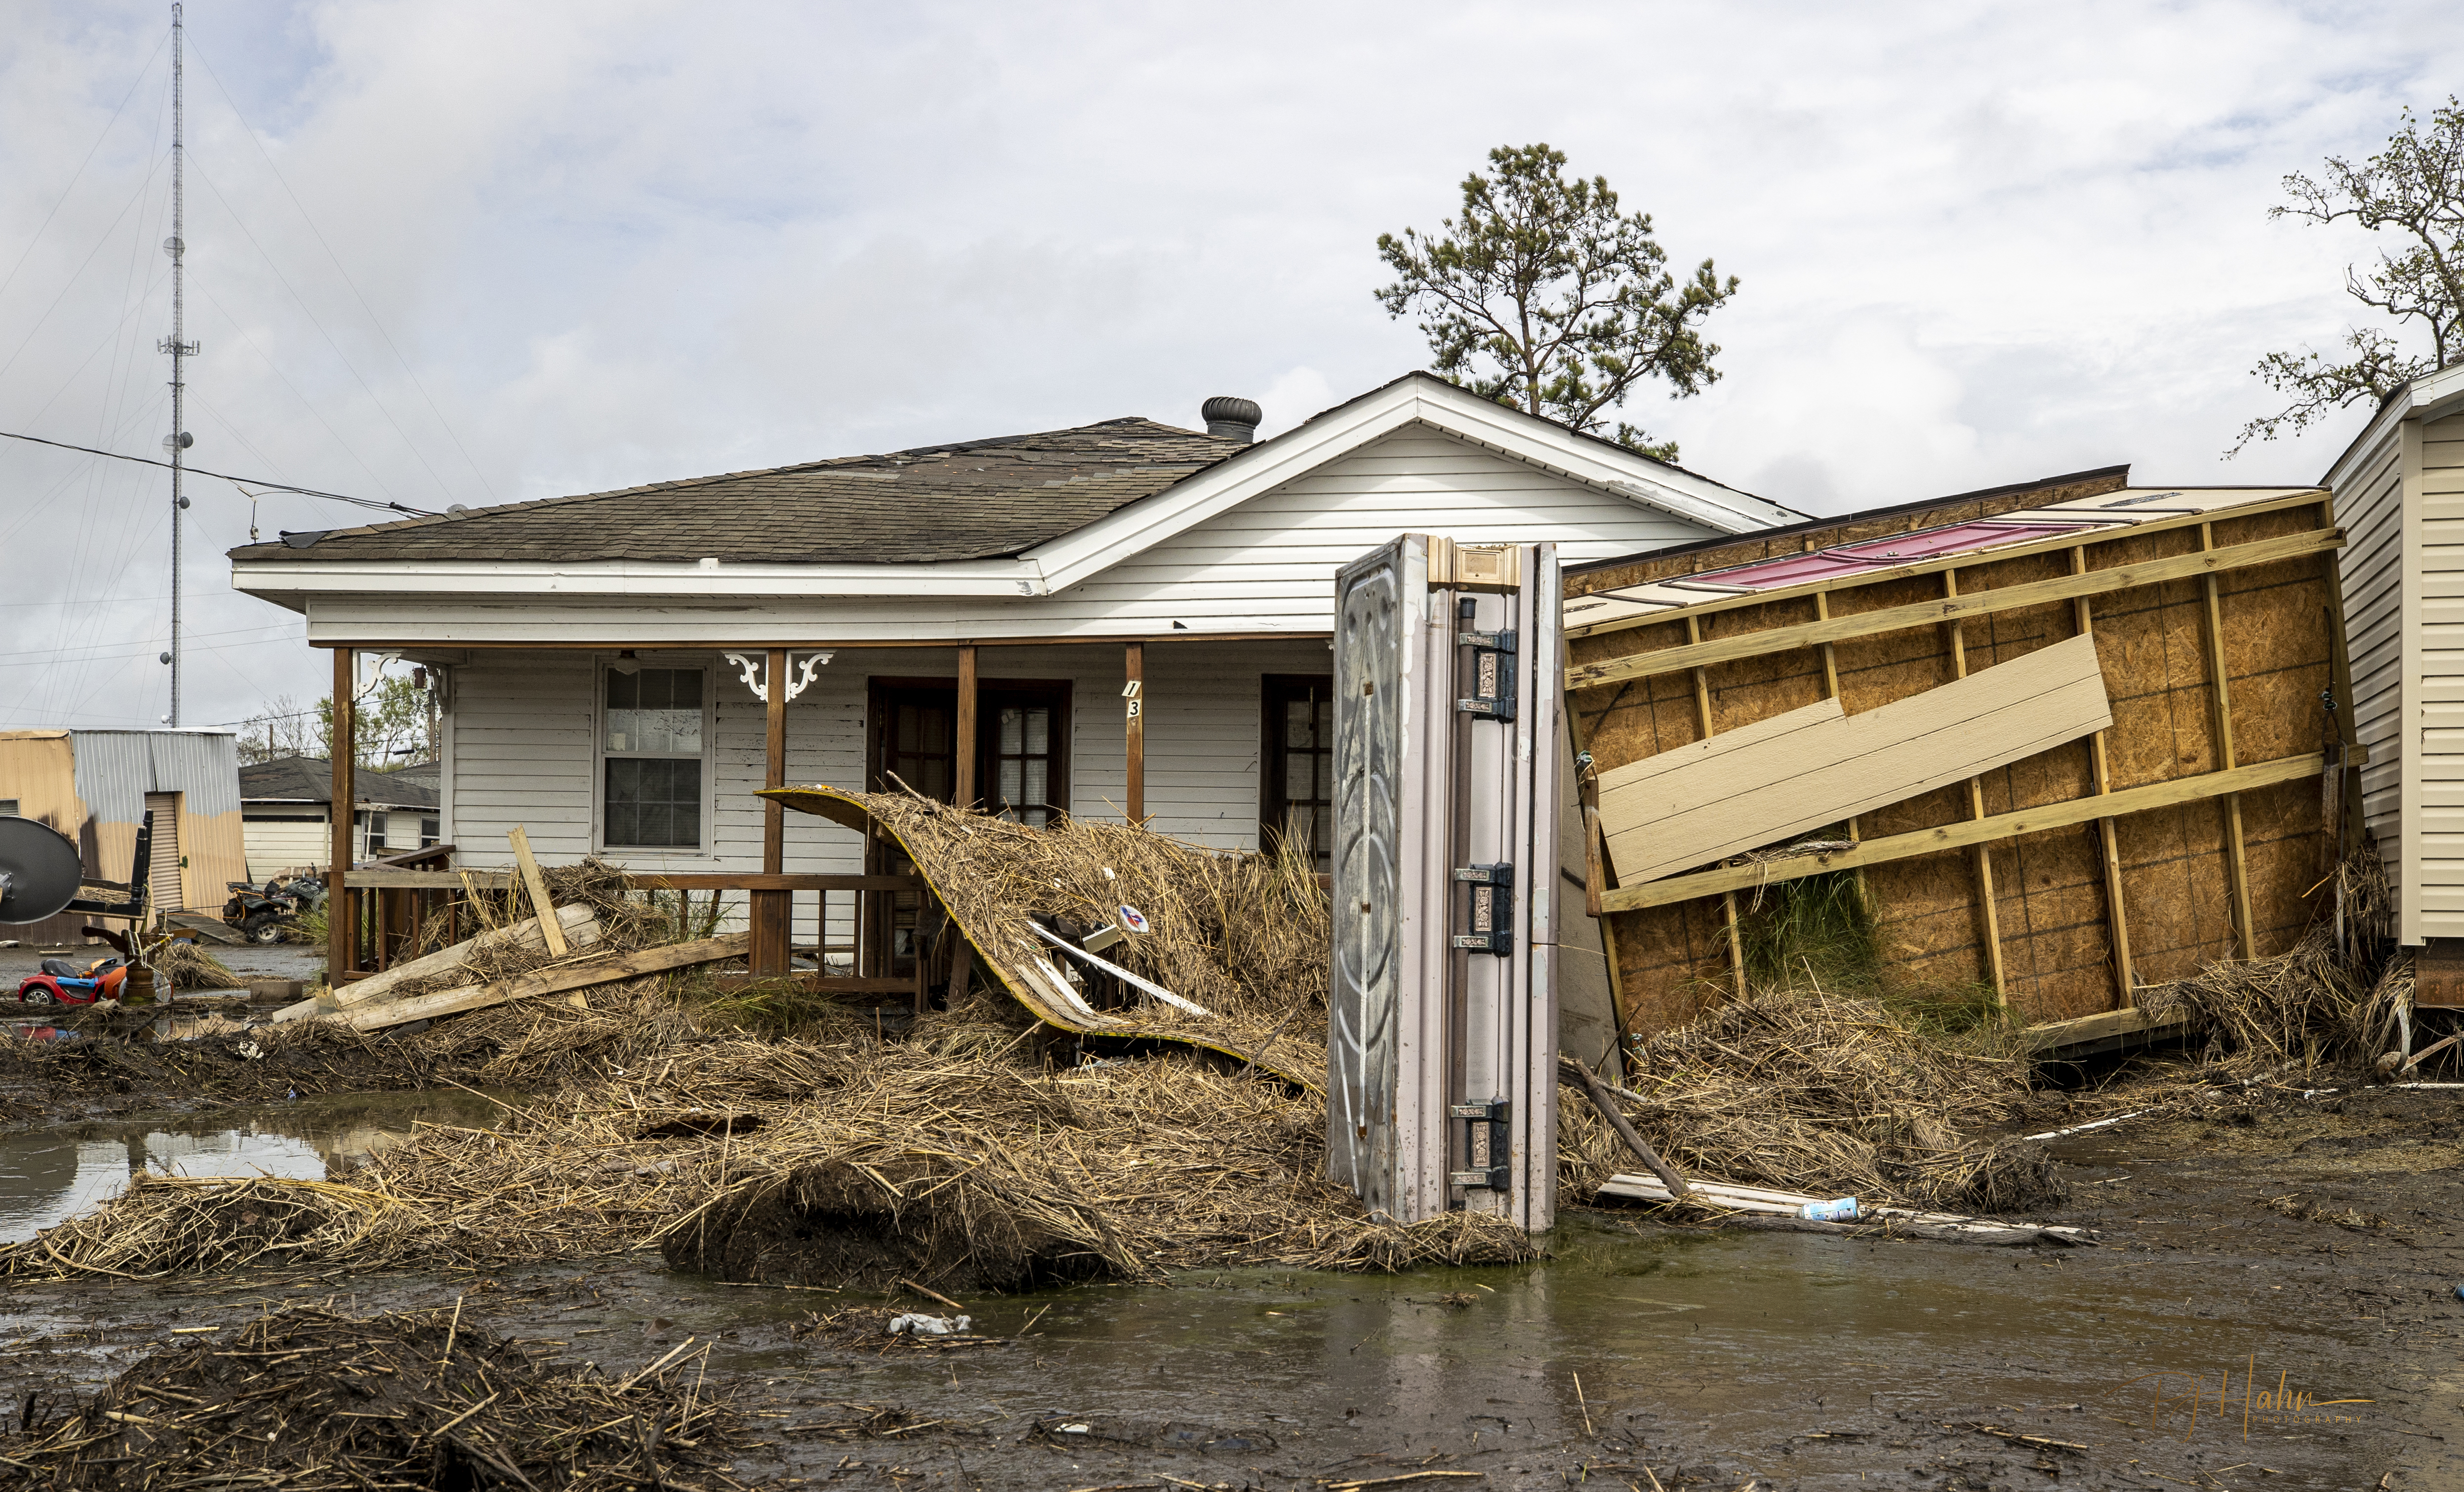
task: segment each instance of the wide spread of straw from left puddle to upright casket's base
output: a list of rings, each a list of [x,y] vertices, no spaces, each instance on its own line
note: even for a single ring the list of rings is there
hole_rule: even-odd
[[[912,1041],[712,1039],[670,1005],[508,1007],[493,1130],[419,1125],[330,1182],[143,1177],[0,1248],[0,1273],[251,1261],[503,1268],[663,1248],[727,1278],[1003,1290],[1200,1265],[1397,1270],[1535,1258],[1478,1214],[1402,1229],[1321,1179],[1323,1103],[1190,1054],[1047,1071],[1015,1027]]]

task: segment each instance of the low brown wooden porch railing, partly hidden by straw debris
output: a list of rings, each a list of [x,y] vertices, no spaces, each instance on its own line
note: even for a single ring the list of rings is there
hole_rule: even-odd
[[[342,874],[330,901],[330,916],[350,906],[350,923],[342,933],[352,950],[340,980],[365,980],[421,948],[441,948],[478,933],[478,923],[466,906],[471,891],[505,891],[517,881],[515,872],[448,869],[451,844],[434,844],[411,854],[394,854]],[[722,982],[793,980],[821,995],[907,995],[917,1012],[926,1009],[934,985],[951,975],[951,941],[939,938],[926,926],[936,911],[924,886],[924,876],[860,876],[860,874],[764,874],[764,872],[690,872],[690,874],[628,874],[626,886],[636,891],[675,891],[680,896],[680,926],[697,916],[690,906],[695,894],[712,899],[739,891],[776,896],[818,896],[813,921],[818,936],[811,945],[793,948],[811,958],[818,970],[719,975]],[[340,891],[350,896],[340,896]],[[853,896],[853,933],[845,943],[830,943],[830,899]],[[922,899],[924,913],[909,916],[912,926],[894,926],[890,901],[897,896]],[[444,921],[444,928],[434,923]],[[833,973],[833,965],[845,973]]]

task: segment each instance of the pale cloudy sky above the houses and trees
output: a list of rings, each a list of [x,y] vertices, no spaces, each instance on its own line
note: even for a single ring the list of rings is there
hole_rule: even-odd
[[[1547,140],[1745,281],[1725,382],[1629,406],[1836,512],[2223,460],[2358,231],[2269,222],[2464,76],[2400,5],[197,0],[192,460],[500,502],[1424,362],[1370,300],[1491,145]],[[0,431],[160,455],[168,5],[0,0]],[[352,510],[195,480],[182,721],[323,692],[222,551]],[[793,537],[786,534],[786,542]],[[165,473],[0,441],[0,726],[150,724]]]

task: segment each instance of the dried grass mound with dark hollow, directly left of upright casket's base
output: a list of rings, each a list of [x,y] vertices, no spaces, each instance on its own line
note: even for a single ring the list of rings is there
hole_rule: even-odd
[[[835,1103],[739,1145],[660,1246],[732,1280],[958,1293],[1538,1258],[1486,1214],[1370,1219],[1321,1177],[1321,1130],[1316,1101],[1183,1056],[1045,1076],[882,1054]]]

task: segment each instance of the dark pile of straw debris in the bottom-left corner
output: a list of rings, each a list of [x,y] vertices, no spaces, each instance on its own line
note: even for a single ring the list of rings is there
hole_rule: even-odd
[[[626,1379],[542,1357],[458,1310],[291,1310],[155,1349],[89,1406],[20,1428],[5,1458],[20,1485],[62,1492],[742,1487],[739,1418],[695,1357]]]

